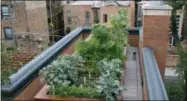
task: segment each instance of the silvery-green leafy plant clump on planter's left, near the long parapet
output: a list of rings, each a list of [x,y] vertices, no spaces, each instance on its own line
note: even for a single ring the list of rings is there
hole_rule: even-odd
[[[79,80],[78,68],[83,67],[83,62],[80,56],[60,56],[40,71],[41,80],[46,81],[48,85],[76,84]]]

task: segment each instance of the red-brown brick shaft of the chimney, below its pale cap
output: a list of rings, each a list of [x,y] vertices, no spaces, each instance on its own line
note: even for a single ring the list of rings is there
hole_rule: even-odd
[[[170,16],[143,17],[143,46],[153,48],[158,67],[164,77],[169,42]]]

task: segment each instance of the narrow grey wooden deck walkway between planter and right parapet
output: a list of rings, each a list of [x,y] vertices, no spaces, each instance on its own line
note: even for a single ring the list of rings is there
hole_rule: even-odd
[[[127,61],[125,66],[125,80],[124,85],[126,91],[123,91],[123,100],[142,100],[142,86],[140,77],[139,63],[136,62],[136,55],[133,56],[133,52],[138,54],[138,48],[127,48]]]

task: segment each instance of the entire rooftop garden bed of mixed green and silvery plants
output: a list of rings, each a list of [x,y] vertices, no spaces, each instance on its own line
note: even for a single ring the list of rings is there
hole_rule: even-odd
[[[75,53],[59,56],[40,71],[48,95],[69,98],[119,100],[127,45],[127,16],[113,16],[110,26],[93,25],[91,38],[76,43]]]

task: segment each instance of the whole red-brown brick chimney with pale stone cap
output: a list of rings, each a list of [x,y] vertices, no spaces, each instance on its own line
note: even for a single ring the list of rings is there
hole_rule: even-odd
[[[171,10],[161,1],[148,1],[142,5],[142,43],[153,49],[162,78],[169,44]]]

